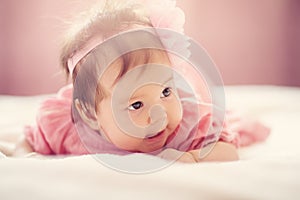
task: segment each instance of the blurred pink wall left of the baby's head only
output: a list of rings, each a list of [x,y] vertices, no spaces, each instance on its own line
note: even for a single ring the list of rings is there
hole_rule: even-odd
[[[0,93],[49,93],[65,84],[58,63],[61,35],[69,16],[89,2],[92,1],[0,0],[4,8]]]

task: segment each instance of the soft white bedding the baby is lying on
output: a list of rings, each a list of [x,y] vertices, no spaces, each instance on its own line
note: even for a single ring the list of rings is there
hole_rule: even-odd
[[[47,96],[0,96],[2,147],[14,147],[23,126],[34,122],[38,102]],[[300,199],[300,88],[228,86],[226,98],[228,108],[272,129],[265,143],[240,149],[240,161],[174,163],[134,175],[107,168],[92,156],[0,154],[0,199]]]

